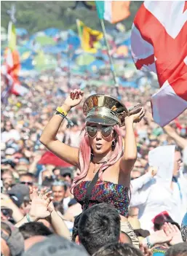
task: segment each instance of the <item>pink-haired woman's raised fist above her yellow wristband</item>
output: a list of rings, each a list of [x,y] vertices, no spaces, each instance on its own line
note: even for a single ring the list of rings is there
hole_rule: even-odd
[[[68,97],[65,99],[65,106],[69,108],[79,105],[84,96],[84,92],[82,90],[71,90]]]

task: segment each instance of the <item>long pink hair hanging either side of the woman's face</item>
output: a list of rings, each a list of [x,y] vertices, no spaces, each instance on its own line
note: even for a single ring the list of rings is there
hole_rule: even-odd
[[[114,163],[116,163],[119,160],[119,158],[122,157],[123,143],[122,143],[122,133],[120,131],[119,125],[114,126],[114,131],[116,131],[116,147],[113,151],[113,154],[111,155],[110,160],[108,160],[107,163],[104,163],[103,166],[101,166],[100,168],[99,178],[101,181],[103,181],[103,170],[105,170],[109,166],[113,166]],[[91,146],[89,144],[89,136],[85,131],[85,125],[84,125],[84,128],[81,131],[80,144],[79,144],[79,164],[80,164],[81,174],[79,176],[76,176],[73,179],[73,184],[71,186],[71,193],[73,193],[74,187],[76,187],[76,185],[78,185],[81,182],[81,180],[87,176],[90,160],[91,160]]]

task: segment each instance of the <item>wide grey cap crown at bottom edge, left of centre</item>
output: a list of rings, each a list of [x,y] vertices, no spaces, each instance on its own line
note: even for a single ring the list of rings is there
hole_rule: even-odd
[[[33,247],[23,253],[23,256],[88,256],[87,251],[81,245],[68,241],[63,236],[47,236],[43,241],[34,244]]]

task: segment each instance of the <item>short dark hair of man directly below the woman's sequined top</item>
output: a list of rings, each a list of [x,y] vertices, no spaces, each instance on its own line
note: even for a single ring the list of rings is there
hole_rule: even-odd
[[[109,203],[89,207],[81,215],[78,234],[79,241],[92,255],[103,245],[119,241],[119,213]]]

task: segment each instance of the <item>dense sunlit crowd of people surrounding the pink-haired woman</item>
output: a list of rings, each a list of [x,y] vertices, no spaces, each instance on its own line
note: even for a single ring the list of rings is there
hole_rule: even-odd
[[[48,150],[40,142],[41,133],[69,91],[80,86],[70,85],[65,75],[45,77],[30,79],[27,95],[10,95],[1,105],[1,255],[187,255],[187,112],[161,128],[151,117],[151,89],[119,87],[127,109],[140,103],[145,111],[134,124],[138,158],[130,171],[125,215],[139,241],[135,247],[133,236],[122,230],[115,203],[100,202],[81,214],[79,196],[71,193],[80,168],[42,161]],[[81,79],[87,82],[89,77]],[[59,141],[79,148],[85,123],[82,106],[88,96],[117,98],[116,88],[108,87],[104,76],[100,80],[100,88],[84,87],[83,101],[68,112],[74,125],[67,128],[63,120]],[[1,83],[4,86],[3,77]],[[123,141],[126,126],[120,128]],[[71,241],[79,214],[77,236]]]

